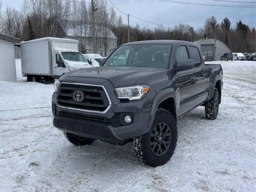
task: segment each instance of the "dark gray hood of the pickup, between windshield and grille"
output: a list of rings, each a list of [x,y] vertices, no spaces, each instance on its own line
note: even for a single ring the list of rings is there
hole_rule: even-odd
[[[148,67],[92,67],[69,72],[65,77],[88,77],[97,79],[107,79],[115,87],[130,86],[145,76],[163,72],[163,68],[148,68]],[[146,83],[145,83],[146,84]]]

